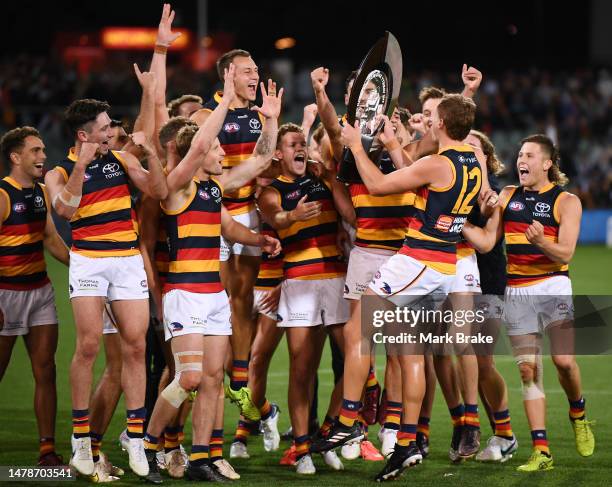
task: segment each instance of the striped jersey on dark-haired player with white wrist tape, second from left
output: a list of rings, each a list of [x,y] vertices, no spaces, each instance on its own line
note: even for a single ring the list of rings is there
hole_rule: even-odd
[[[55,169],[68,182],[77,160],[73,149]],[[108,151],[85,169],[83,196],[70,219],[72,251],[87,257],[123,257],[140,253],[138,223],[130,196],[127,166]]]

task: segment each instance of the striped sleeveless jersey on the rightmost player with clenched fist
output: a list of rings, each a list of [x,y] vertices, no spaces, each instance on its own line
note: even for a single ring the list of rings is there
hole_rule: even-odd
[[[557,204],[563,189],[550,183],[540,191],[515,187],[503,211],[504,236],[508,264],[508,286],[530,286],[552,276],[569,275],[569,266],[554,262],[536,246],[529,243],[525,232],[535,220],[544,226],[547,240],[559,238]]]

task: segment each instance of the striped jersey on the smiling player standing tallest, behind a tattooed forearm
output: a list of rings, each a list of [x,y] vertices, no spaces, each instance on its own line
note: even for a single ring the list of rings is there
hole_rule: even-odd
[[[213,111],[223,93],[218,91],[204,109]],[[225,151],[223,169],[231,169],[253,154],[257,139],[261,135],[263,118],[250,108],[230,108],[219,132],[219,142]],[[223,204],[231,215],[241,215],[255,209],[255,180],[249,181],[236,191],[223,196]]]

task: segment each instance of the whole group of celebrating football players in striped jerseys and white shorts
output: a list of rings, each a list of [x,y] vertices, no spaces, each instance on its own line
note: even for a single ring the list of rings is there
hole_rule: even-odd
[[[377,120],[384,151],[376,162],[358,125],[328,98],[326,68],[311,73],[315,103],[301,124],[279,126],[283,89],[260,83],[251,54],[239,49],[218,59],[223,90],[209,101],[184,95],[167,104],[173,18],[164,5],[150,69],[134,65],[142,100],[130,135],[106,102],[82,99],[65,112],[74,144],[45,174],[36,129],[13,129],[0,142],[10,166],[0,180],[0,378],[23,336],[35,378],[39,465],[64,463],[54,445],[58,319],[44,250],[69,267],[76,328],[70,465],[94,482],[123,474],[101,451],[122,392],[121,445],[132,471],[151,483],[161,483],[164,470],[190,480],[240,478],[224,458],[226,398],[240,414],[229,458],[249,458],[248,439],[260,432],[264,450],[278,450],[280,410],[266,398],[266,382],[283,334],[292,444],[281,464],[297,474],[316,473],[317,453],[335,470],[344,469],[340,457],[385,461],[377,481],[420,464],[429,453],[436,382],[451,419],[450,460],[512,458],[518,443],[493,356],[467,345],[440,354],[420,345],[388,352],[381,388],[364,312],[372,299],[478,307],[491,324],[503,319],[533,440],[521,472],[553,468],[542,380],[547,335],[577,451],[592,455],[580,370],[564,346],[582,210],[563,190],[552,140],[525,137],[519,184],[499,187],[503,165],[490,139],[472,128],[482,75],[465,65],[461,94],[427,87],[421,113],[398,107]],[[357,182],[338,180],[346,150]],[[69,246],[52,210],[70,224]],[[147,330],[166,362],[149,411]],[[102,336],[107,367],[94,392]],[[328,337],[335,386],[319,425],[317,369]],[[479,397],[492,428],[482,447]],[[380,448],[368,437],[377,422]]]

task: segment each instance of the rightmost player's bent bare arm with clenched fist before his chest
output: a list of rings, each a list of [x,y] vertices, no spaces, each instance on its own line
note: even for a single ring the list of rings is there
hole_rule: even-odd
[[[535,220],[527,228],[525,236],[549,259],[569,264],[574,256],[580,233],[582,205],[578,197],[571,193],[563,193],[559,198],[561,200],[558,202],[559,235],[557,241],[546,238],[544,227]]]

